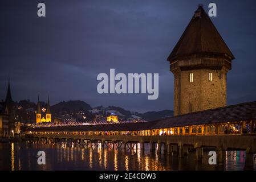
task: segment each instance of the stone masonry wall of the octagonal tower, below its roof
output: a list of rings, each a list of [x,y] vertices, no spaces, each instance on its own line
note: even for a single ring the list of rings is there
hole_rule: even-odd
[[[213,81],[209,81],[209,73]],[[189,74],[193,73],[193,82]],[[226,72],[224,70],[196,69],[174,75],[174,115],[226,106]]]

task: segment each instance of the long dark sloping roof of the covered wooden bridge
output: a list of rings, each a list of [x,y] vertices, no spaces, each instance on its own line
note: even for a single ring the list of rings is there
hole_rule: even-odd
[[[109,125],[30,127],[27,131],[138,131],[211,123],[249,121],[251,119],[256,119],[256,101],[218,107],[216,109],[198,111],[150,122]]]

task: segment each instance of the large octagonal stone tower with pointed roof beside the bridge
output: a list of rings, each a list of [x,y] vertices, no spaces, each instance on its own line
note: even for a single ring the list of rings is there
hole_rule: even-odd
[[[198,5],[168,57],[174,75],[174,115],[226,106],[226,76],[233,54]]]

